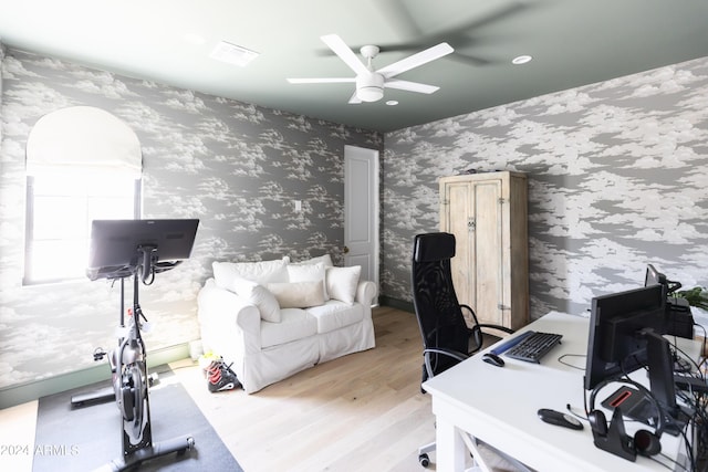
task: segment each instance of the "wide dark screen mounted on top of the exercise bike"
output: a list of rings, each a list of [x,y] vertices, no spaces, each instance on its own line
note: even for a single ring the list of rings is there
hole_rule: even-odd
[[[143,264],[140,248],[150,248],[150,263],[189,259],[199,220],[94,220],[86,275],[91,280],[131,275]]]

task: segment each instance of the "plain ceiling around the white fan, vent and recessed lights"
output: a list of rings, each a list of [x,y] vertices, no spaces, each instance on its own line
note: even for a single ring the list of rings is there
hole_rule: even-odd
[[[447,41],[455,53],[350,105],[352,71],[320,41],[376,44],[379,69]],[[195,43],[198,35],[204,43]],[[220,41],[260,53],[209,57]],[[0,42],[181,88],[382,132],[708,55],[706,0],[0,0]],[[512,65],[530,54],[533,61]],[[387,106],[386,99],[398,101]]]

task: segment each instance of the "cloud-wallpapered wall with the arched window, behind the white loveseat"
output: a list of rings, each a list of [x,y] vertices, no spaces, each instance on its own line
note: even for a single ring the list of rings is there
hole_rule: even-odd
[[[24,147],[44,114],[88,105],[122,118],[142,143],[144,217],[201,220],[192,258],[140,289],[148,349],[199,337],[196,294],[214,260],[341,262],[344,145],[383,151],[378,133],[10,49],[0,104],[0,388],[93,366],[94,348],[116,343],[118,285],[21,285]]]

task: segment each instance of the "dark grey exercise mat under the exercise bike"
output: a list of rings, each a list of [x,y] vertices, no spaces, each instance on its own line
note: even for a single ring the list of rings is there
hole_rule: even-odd
[[[136,471],[237,471],[241,466],[167,367],[150,388],[153,442],[191,436],[195,447],[143,462]],[[170,377],[173,377],[170,379]],[[71,407],[76,394],[108,386],[102,382],[40,398],[33,471],[91,471],[123,455],[121,412],[115,401]],[[205,385],[206,388],[206,385]]]

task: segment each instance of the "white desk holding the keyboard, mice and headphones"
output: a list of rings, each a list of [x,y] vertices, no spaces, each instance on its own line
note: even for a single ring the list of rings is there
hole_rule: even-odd
[[[563,335],[562,344],[540,365],[502,356],[506,366],[500,368],[483,363],[481,355],[476,355],[427,380],[423,386],[433,396],[436,416],[436,470],[465,469],[468,452],[460,430],[538,471],[666,472],[666,466],[654,459],[664,461],[673,470],[671,463],[660,455],[637,457],[636,462],[631,462],[595,448],[590,424],[585,421],[584,429],[576,431],[539,419],[537,411],[540,408],[566,411],[569,403],[573,411],[584,416],[587,326],[589,318],[550,313],[517,332],[533,329]],[[581,355],[563,359],[580,369],[561,364],[558,358],[563,354]],[[605,390],[601,391],[595,407],[598,408],[601,400],[613,391],[612,386],[606,388],[606,395]],[[608,412],[606,415],[611,417]],[[628,434],[634,434],[641,424],[626,422],[625,427]],[[663,434],[663,452],[676,457],[683,442],[679,438]]]

